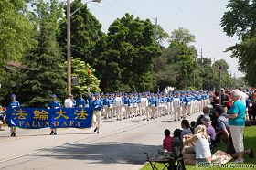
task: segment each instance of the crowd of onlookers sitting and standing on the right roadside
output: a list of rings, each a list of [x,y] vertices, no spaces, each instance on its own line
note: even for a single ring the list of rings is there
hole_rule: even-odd
[[[252,101],[255,93],[244,92],[242,88],[215,92],[211,101],[213,107],[204,107],[204,114],[199,115],[197,121],[183,120],[182,129],[176,129],[174,133],[178,134],[173,137],[165,130],[163,149],[172,152],[172,143],[178,137],[185,165],[210,163],[219,143],[225,144],[224,152],[231,155],[235,163],[243,163],[244,155],[253,158],[253,150],[244,148],[243,133],[245,120],[255,119],[256,104]]]

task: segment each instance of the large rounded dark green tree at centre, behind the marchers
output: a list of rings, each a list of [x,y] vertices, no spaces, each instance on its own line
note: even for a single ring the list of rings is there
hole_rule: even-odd
[[[109,27],[93,49],[93,68],[101,80],[101,90],[152,90],[153,59],[160,56],[154,42],[154,26],[125,14]]]

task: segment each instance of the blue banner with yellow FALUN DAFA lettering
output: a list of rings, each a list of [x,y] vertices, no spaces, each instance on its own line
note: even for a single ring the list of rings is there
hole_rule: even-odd
[[[92,108],[7,108],[8,126],[25,129],[90,128]]]

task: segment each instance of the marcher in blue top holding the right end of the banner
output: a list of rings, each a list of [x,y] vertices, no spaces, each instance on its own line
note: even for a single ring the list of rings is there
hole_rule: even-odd
[[[101,123],[101,108],[102,102],[100,100],[100,94],[95,94],[95,100],[92,101],[93,115],[92,115],[92,126],[95,127],[94,132],[100,133]]]

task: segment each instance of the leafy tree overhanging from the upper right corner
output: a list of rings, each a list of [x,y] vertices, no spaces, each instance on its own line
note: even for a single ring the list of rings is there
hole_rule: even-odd
[[[227,51],[232,51],[231,58],[239,59],[240,71],[246,74],[248,83],[255,86],[256,2],[230,0],[227,8],[229,11],[222,16],[220,27],[229,37],[237,35],[241,39],[240,43],[227,48]]]

